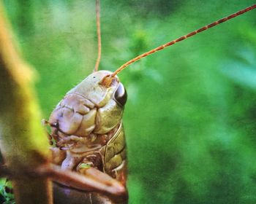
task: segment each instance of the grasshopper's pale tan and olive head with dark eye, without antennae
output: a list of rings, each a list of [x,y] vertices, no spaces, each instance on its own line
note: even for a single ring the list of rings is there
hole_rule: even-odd
[[[50,115],[55,138],[108,134],[121,122],[127,93],[118,78],[100,84],[110,71],[96,71],[70,90]]]

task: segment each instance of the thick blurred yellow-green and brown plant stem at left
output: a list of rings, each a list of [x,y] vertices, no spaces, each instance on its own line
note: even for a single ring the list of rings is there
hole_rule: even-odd
[[[48,165],[49,152],[40,125],[40,111],[26,66],[13,44],[10,26],[0,2],[0,149],[12,171]],[[53,203],[48,178],[13,178],[16,203]]]

